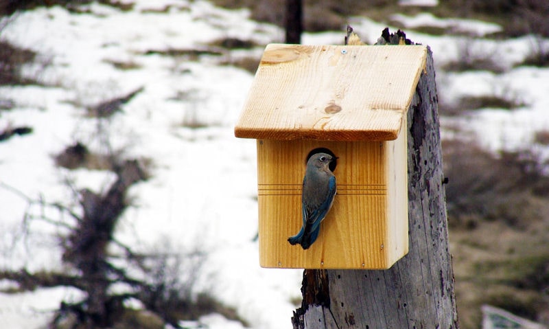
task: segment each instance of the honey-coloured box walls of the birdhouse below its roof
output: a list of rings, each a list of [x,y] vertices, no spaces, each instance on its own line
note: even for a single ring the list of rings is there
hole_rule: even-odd
[[[309,249],[290,245],[302,225],[305,161],[338,157],[337,194]],[[408,253],[406,134],[395,141],[257,141],[259,260],[264,267],[388,269]]]

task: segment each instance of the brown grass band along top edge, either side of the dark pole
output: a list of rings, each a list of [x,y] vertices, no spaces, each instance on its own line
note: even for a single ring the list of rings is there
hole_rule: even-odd
[[[252,18],[283,26],[284,0],[213,0],[226,8],[250,8]],[[389,23],[396,12],[414,15],[431,12],[439,17],[463,17],[498,23],[504,32],[498,36],[522,36],[539,34],[549,36],[549,7],[546,0],[453,0],[439,1],[436,7],[398,5],[397,0],[312,0],[304,1],[305,30],[341,30],[349,16],[367,16],[376,21]],[[429,27],[419,30],[430,31]],[[453,33],[449,30],[436,30],[436,34]],[[495,35],[494,35],[495,36]]]

